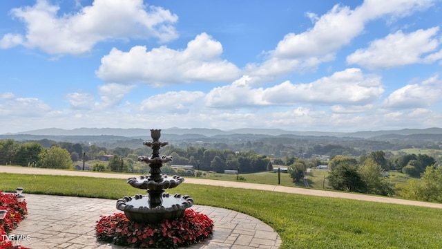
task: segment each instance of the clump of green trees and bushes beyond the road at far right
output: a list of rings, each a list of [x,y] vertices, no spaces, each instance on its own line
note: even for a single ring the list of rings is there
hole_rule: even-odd
[[[383,151],[373,151],[358,158],[334,156],[328,166],[327,179],[334,190],[442,202],[442,167],[432,156],[401,154],[387,159]],[[384,174],[392,170],[413,178],[405,184],[392,185],[388,174]]]

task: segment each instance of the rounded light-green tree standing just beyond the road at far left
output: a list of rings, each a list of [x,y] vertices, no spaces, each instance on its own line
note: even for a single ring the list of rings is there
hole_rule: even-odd
[[[54,146],[41,151],[37,165],[50,169],[70,169],[73,167],[73,161],[70,159],[69,151]]]

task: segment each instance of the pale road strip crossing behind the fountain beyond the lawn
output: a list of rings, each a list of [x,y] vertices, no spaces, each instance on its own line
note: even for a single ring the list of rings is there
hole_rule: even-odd
[[[43,168],[32,168],[32,167],[15,167],[15,166],[1,166],[0,173],[13,173],[13,174],[43,174],[43,175],[55,175],[55,176],[88,176],[97,178],[117,178],[117,179],[127,179],[133,176],[139,176],[136,174],[112,174],[112,173],[99,173],[99,172],[88,172],[88,171],[70,171],[61,169],[43,169]],[[200,184],[200,185],[211,185],[220,187],[235,187],[251,190],[265,190],[282,192],[288,194],[304,194],[311,196],[324,196],[332,198],[342,198],[342,199],[353,199],[359,201],[374,201],[379,203],[392,203],[401,205],[414,205],[427,208],[441,208],[441,203],[427,203],[423,201],[410,201],[403,199],[394,199],[385,196],[374,196],[368,194],[353,194],[348,192],[334,192],[327,190],[313,190],[302,187],[285,187],[280,185],[266,185],[257,183],[243,183],[236,181],[219,181],[211,179],[202,178],[186,178],[185,183]]]

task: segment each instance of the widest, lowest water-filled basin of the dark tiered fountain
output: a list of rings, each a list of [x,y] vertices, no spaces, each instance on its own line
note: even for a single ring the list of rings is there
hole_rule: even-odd
[[[137,194],[126,196],[117,201],[117,209],[124,211],[126,218],[137,223],[160,223],[163,219],[177,219],[184,215],[187,208],[193,205],[190,196],[169,193],[162,194],[162,203],[150,206],[148,195]]]

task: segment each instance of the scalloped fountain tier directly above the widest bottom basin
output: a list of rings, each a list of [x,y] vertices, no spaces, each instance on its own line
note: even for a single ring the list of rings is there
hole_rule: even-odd
[[[164,190],[177,187],[184,182],[182,176],[172,176],[162,175],[160,181],[155,181],[151,176],[140,176],[138,178],[131,177],[127,179],[132,187],[136,187],[141,190]]]

